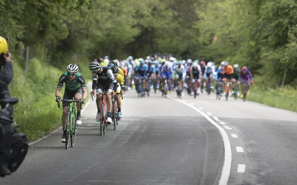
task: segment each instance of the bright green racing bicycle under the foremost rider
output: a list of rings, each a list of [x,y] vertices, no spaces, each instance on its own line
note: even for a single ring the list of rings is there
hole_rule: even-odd
[[[66,130],[65,148],[68,149],[69,139],[71,140],[71,147],[74,147],[74,144],[75,144],[76,131],[78,130],[78,125],[76,124],[77,117],[76,117],[75,102],[80,102],[80,101],[73,100],[73,99],[72,100],[61,99],[61,101],[68,102],[66,124],[64,128]],[[58,107],[60,108],[60,102],[58,102]],[[80,109],[82,109],[81,103],[80,103]]]

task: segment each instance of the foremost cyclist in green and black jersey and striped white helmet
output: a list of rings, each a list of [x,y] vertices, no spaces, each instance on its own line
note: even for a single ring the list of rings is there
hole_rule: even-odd
[[[58,87],[56,90],[56,101],[61,102],[60,92],[65,83],[65,91],[63,99],[70,100],[74,98],[79,100],[80,103],[84,104],[87,97],[87,90],[85,84],[85,78],[83,75],[78,73],[78,66],[75,64],[69,64],[67,66],[67,71],[60,76]],[[81,124],[80,117],[80,103],[76,104],[77,107],[77,122],[76,124]],[[63,136],[61,142],[66,141],[66,130],[65,123],[67,117],[68,102],[63,102],[63,114],[62,114],[62,124],[63,124]]]

